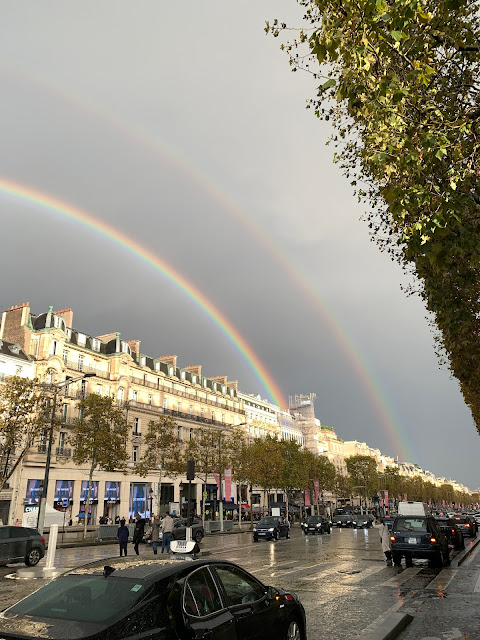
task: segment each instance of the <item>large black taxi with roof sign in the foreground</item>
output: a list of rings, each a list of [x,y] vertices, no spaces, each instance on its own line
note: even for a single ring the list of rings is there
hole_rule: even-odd
[[[79,567],[0,618],[5,640],[305,640],[298,597],[227,560],[134,560]]]

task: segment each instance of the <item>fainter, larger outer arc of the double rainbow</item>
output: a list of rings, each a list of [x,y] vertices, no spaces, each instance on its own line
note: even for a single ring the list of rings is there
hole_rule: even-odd
[[[195,182],[203,191],[211,195],[211,197],[219,202],[225,209],[245,226],[251,233],[252,237],[257,239],[274,258],[282,264],[288,277],[291,278],[295,285],[304,292],[310,304],[319,314],[325,324],[328,326],[332,335],[335,337],[337,344],[351,362],[352,367],[360,380],[371,405],[375,408],[381,424],[385,428],[388,435],[390,446],[394,455],[399,456],[403,460],[413,460],[414,454],[412,447],[406,438],[405,430],[401,427],[396,412],[392,408],[386,393],[383,391],[383,385],[369,366],[367,357],[361,353],[354,340],[349,336],[349,332],[342,323],[338,314],[324,301],[320,296],[316,284],[309,276],[301,270],[287,256],[284,248],[277,246],[272,240],[271,233],[265,229],[258,220],[253,219],[245,212],[244,207],[235,202],[234,197],[225,193],[224,189],[220,189],[205,174],[192,165],[191,162],[182,158],[174,149],[170,148],[163,141],[155,139],[155,135],[146,129],[142,129],[137,124],[132,125],[124,117],[112,111],[106,111],[97,105],[86,101],[84,98],[74,96],[65,91],[65,89],[54,83],[51,79],[43,76],[39,78],[31,74],[25,68],[20,67],[17,62],[10,60],[8,66],[0,63],[0,67],[6,73],[15,71],[15,76],[23,76],[28,82],[36,84],[42,90],[45,87],[61,100],[68,102],[73,107],[92,115],[104,122],[107,126],[120,131],[124,136],[131,139],[135,144],[159,153],[163,158],[168,158],[179,171],[186,174],[190,180]],[[109,234],[107,234],[109,235]],[[274,397],[274,396],[273,396]]]

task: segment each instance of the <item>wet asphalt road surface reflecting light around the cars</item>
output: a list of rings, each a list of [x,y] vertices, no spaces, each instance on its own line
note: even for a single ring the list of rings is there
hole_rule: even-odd
[[[289,540],[254,543],[251,533],[213,535],[201,547],[213,557],[237,562],[267,585],[297,593],[307,612],[310,640],[370,638],[382,620],[405,611],[414,620],[400,636],[402,640],[480,638],[476,617],[465,619],[469,607],[475,605],[476,610],[480,596],[476,550],[458,568],[455,562],[452,567],[434,569],[415,561],[411,569],[398,569],[385,565],[376,528],[304,536],[298,525]],[[131,545],[129,553],[133,553]],[[55,565],[69,568],[116,555],[117,545],[59,549]],[[144,545],[140,555],[151,558],[153,553]],[[43,584],[9,578],[14,570],[0,568],[1,609]],[[455,629],[462,635],[452,635]]]

